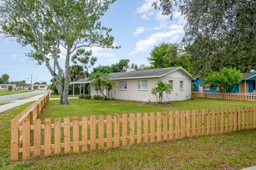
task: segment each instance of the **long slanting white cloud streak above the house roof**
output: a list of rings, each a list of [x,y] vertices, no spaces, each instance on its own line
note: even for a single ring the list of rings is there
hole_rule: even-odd
[[[166,39],[170,43],[174,43],[175,41],[178,40],[179,34],[182,34],[182,33],[183,33],[183,29],[180,29],[180,27],[173,25],[170,28],[170,31],[154,33],[153,35],[150,35],[147,39],[139,40],[136,43],[135,49],[129,55],[132,55],[137,52],[144,52],[146,50],[149,50],[151,46],[154,46],[157,43],[160,43]]]

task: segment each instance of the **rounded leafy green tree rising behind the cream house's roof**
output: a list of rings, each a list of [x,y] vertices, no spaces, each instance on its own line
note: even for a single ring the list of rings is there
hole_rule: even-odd
[[[155,69],[182,66],[190,71],[190,56],[183,53],[178,44],[162,43],[155,46],[148,60]]]

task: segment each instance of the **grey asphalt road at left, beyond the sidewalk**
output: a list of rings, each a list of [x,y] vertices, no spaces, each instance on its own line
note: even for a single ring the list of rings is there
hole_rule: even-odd
[[[47,92],[47,90],[36,90],[36,91],[31,91],[31,92],[24,92],[22,94],[0,96],[0,103],[6,103],[6,102],[10,102],[10,101],[17,100],[20,98],[44,94],[45,92]]]

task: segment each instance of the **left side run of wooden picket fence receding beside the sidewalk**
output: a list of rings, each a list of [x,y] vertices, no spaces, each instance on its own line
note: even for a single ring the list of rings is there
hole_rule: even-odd
[[[43,112],[43,107],[46,105],[47,101],[49,101],[49,94],[45,94],[43,97],[39,98],[11,121],[11,160],[17,160],[17,149],[19,147],[29,145],[26,140],[26,130],[23,131],[19,129],[19,127],[25,122],[27,122],[27,125],[33,125],[35,121],[38,120],[40,113]]]

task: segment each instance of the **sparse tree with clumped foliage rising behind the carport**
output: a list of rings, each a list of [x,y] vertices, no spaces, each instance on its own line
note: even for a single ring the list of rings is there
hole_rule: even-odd
[[[97,62],[97,57],[92,56],[92,50],[77,49],[76,54],[72,56],[71,61],[84,67],[86,77],[89,76],[92,66]]]

